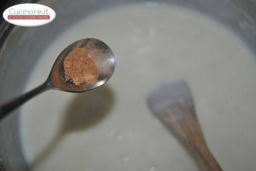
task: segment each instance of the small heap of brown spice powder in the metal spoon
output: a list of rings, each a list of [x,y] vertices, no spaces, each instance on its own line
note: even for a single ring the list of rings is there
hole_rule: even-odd
[[[85,48],[75,48],[70,52],[63,66],[65,81],[72,81],[75,85],[95,84],[98,81],[98,69]]]

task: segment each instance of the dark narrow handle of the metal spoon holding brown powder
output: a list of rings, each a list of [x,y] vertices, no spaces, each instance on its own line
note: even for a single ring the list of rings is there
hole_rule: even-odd
[[[40,94],[46,90],[51,88],[51,84],[49,81],[44,82],[39,87],[31,90],[30,92],[25,93],[24,95],[20,95],[17,98],[6,101],[5,103],[0,104],[0,120],[3,119],[9,112],[13,111],[23,103],[25,103],[30,98],[33,98],[35,95]]]

